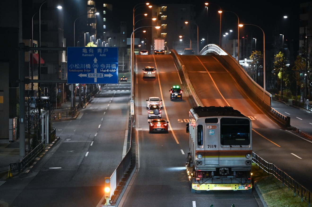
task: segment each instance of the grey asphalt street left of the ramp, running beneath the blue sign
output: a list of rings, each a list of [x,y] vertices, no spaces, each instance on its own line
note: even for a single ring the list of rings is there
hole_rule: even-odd
[[[128,130],[130,84],[107,85],[76,120],[55,122],[56,146],[27,177],[7,180],[1,200],[10,206],[96,206],[122,159]]]

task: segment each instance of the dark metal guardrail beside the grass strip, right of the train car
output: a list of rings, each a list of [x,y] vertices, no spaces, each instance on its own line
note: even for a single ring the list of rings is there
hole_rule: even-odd
[[[309,207],[311,206],[311,192],[291,178],[287,173],[276,167],[274,164],[266,162],[254,152],[252,152],[252,162],[258,165],[259,168],[263,169],[265,172],[275,176],[282,182],[283,186],[287,186],[288,190],[292,190],[294,192],[294,196],[300,197],[301,202],[305,201],[308,203]]]

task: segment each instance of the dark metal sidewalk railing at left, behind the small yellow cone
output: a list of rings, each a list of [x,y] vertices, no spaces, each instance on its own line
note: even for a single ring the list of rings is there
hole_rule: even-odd
[[[45,142],[46,140],[43,140],[43,142],[39,143],[37,147],[28,153],[20,162],[10,163],[7,177],[12,177],[12,173],[20,173],[25,169],[25,167],[31,165],[38,154],[40,154],[45,149]]]

